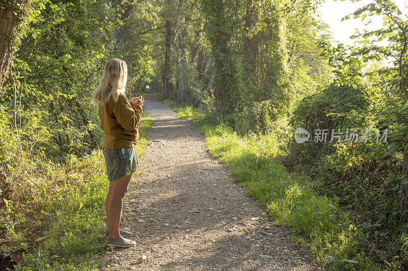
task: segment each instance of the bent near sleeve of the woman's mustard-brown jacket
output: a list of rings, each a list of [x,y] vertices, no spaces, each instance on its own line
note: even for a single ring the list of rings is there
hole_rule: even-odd
[[[126,131],[133,131],[139,127],[142,107],[140,105],[131,106],[126,96],[120,95],[117,103],[113,104],[113,113],[118,123]]]

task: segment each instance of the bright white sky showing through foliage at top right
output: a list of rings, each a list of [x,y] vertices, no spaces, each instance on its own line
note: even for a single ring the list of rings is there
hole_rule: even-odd
[[[402,14],[407,14],[408,9],[405,8],[405,6],[408,6],[408,0],[393,0],[393,2],[401,10]],[[358,8],[370,3],[372,3],[370,0],[362,0],[360,2],[351,2],[350,0],[344,2],[340,0],[326,0],[322,4],[318,14],[320,15],[320,18],[330,26],[331,32],[333,32],[336,41],[340,41],[346,45],[353,45],[356,39],[350,40],[349,37],[355,34],[355,28],[363,31],[365,28],[364,24],[368,19],[372,19],[371,27],[369,27],[369,29],[379,29],[383,27],[382,17],[384,16],[367,16],[363,22],[361,21],[361,18],[354,19],[353,16],[350,16],[350,19],[344,20],[343,22],[341,21],[344,16],[351,14]]]

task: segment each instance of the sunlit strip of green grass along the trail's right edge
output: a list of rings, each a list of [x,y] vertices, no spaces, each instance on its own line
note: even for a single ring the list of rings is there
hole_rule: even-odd
[[[247,194],[260,199],[269,217],[276,224],[288,226],[294,242],[308,246],[325,267],[382,269],[361,249],[359,244],[365,236],[353,225],[352,217],[336,201],[318,195],[308,176],[289,173],[270,156],[278,151],[274,135],[243,138],[231,128],[212,125],[206,115],[196,109],[168,100],[164,103],[205,135],[210,153],[226,164]]]

